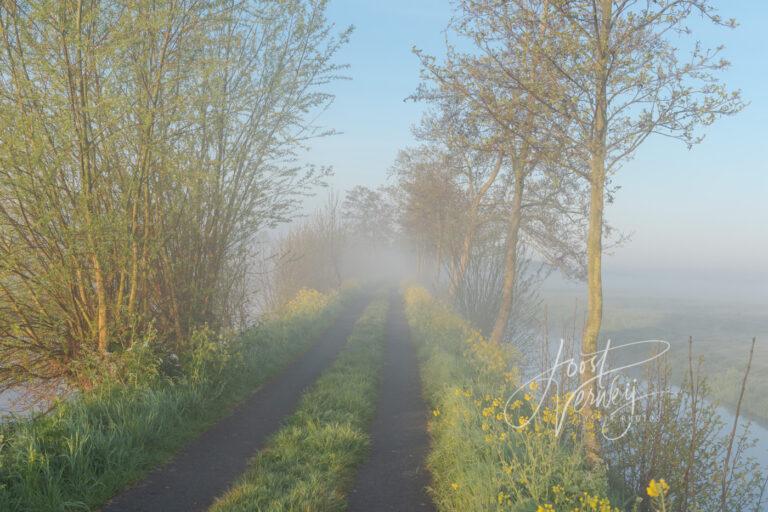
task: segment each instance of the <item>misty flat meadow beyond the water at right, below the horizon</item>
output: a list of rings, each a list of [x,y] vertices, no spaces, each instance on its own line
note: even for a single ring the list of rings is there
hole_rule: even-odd
[[[661,295],[661,294],[659,294]],[[585,299],[573,289],[548,290],[543,295],[549,317],[550,339],[573,332],[583,322]],[[757,337],[754,360],[743,407],[747,414],[768,424],[768,305],[714,298],[665,298],[630,292],[607,293],[603,338],[614,345],[647,339],[663,339],[672,345],[670,363],[679,382],[688,368],[688,337],[693,337],[694,356],[703,367],[713,395],[723,405],[738,396],[738,375],[746,365],[749,346]]]

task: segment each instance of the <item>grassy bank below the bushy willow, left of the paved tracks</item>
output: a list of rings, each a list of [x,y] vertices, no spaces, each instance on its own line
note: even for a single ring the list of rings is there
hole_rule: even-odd
[[[355,293],[304,290],[232,339],[201,331],[170,371],[137,347],[119,382],[0,426],[0,510],[97,508],[279,372]]]

